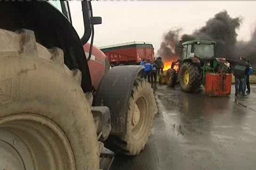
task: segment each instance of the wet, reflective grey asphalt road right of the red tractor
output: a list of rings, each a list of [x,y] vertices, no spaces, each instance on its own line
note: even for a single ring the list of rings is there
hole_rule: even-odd
[[[234,89],[234,87],[233,87]],[[255,170],[256,86],[246,97],[155,91],[159,113],[139,156],[115,156],[111,170]]]

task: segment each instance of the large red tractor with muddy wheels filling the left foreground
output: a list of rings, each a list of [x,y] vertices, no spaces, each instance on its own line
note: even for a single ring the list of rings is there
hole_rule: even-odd
[[[101,18],[81,6],[80,39],[66,1],[1,2],[1,170],[99,170],[102,142],[126,155],[145,147],[151,85],[141,66],[110,68],[86,44]]]

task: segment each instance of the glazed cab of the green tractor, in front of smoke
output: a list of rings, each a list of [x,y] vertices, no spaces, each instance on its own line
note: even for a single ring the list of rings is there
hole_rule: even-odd
[[[200,40],[193,40],[193,41],[186,41],[183,42],[181,45],[182,55],[181,59],[189,59],[191,57],[197,57],[199,59],[211,59],[214,58],[214,45],[216,42],[214,41],[200,41]]]

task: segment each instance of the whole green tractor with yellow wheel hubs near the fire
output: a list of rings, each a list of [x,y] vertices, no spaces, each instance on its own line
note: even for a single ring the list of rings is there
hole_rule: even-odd
[[[166,82],[173,87],[177,82],[185,92],[195,92],[205,85],[207,73],[230,73],[230,66],[216,58],[214,41],[193,40],[181,43],[181,55],[166,73]]]

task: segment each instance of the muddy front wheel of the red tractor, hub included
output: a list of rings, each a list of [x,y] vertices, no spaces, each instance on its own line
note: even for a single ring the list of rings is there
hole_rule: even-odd
[[[123,136],[110,136],[108,147],[117,153],[138,155],[151,133],[157,105],[151,84],[137,78],[132,88],[127,113],[127,130]]]

